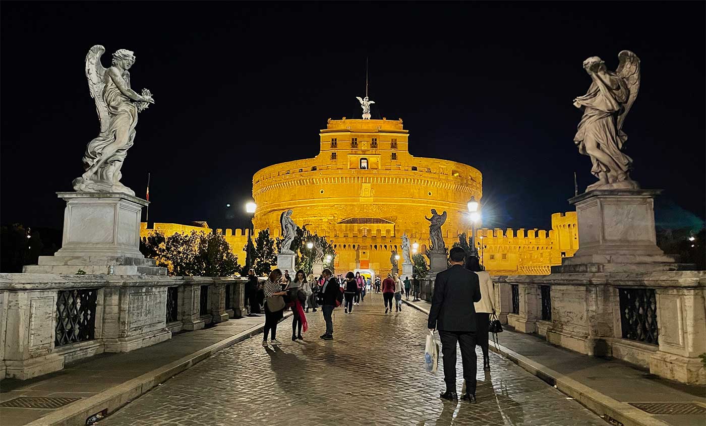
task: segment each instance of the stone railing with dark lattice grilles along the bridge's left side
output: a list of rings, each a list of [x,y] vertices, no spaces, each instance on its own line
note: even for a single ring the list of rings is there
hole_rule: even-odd
[[[0,378],[29,379],[246,315],[245,278],[0,274]]]

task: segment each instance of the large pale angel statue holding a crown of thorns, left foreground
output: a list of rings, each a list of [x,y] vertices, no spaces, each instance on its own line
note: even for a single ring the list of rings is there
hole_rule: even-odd
[[[119,49],[112,66],[103,68],[100,57],[105,48],[91,47],[86,55],[88,89],[95,100],[100,134],[91,140],[83,154],[85,172],[73,180],[73,189],[88,193],[126,193],[135,195],[120,183],[120,169],[135,139],[138,112],[155,103],[149,90],[138,95],[130,87],[128,70],[135,63],[132,51]]]

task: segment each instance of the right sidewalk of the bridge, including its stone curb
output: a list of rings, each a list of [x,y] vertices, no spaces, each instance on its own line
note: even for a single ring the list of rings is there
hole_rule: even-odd
[[[429,313],[431,303],[410,302],[421,312]],[[505,327],[505,326],[503,326]],[[706,387],[690,386],[650,375],[639,367],[621,360],[608,360],[582,355],[546,343],[540,336],[505,329],[498,334],[498,348],[492,351],[523,367],[560,391],[575,398],[612,424],[627,425],[706,425]],[[650,414],[636,403],[691,403],[696,414],[676,414],[688,407],[644,407],[654,412],[658,408],[672,414]]]

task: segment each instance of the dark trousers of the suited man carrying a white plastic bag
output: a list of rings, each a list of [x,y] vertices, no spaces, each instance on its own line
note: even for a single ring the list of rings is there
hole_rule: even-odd
[[[461,347],[461,363],[463,378],[466,380],[466,391],[476,393],[476,334],[473,331],[443,331],[439,330],[441,352],[443,353],[443,379],[446,390],[456,391],[456,342]]]

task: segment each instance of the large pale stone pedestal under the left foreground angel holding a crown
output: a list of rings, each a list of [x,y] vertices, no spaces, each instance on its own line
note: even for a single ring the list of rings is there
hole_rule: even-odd
[[[34,274],[166,275],[140,252],[140,213],[148,202],[123,193],[57,193],[66,200],[64,236],[54,256],[40,256]]]

